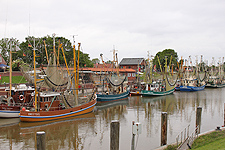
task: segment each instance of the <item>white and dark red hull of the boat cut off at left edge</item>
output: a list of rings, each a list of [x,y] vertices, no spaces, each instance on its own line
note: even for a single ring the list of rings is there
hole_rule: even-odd
[[[0,118],[19,118],[20,107],[0,105]]]

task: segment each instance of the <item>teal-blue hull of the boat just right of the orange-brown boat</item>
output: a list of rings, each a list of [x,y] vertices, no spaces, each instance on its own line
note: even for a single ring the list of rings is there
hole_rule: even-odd
[[[130,91],[126,91],[121,94],[114,94],[114,95],[103,95],[103,94],[97,94],[97,102],[98,103],[104,103],[104,102],[110,102],[110,101],[119,101],[126,99],[130,94]]]

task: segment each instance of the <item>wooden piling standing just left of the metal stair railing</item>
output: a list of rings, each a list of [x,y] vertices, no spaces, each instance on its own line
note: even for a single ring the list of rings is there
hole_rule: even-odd
[[[162,112],[161,117],[161,146],[167,144],[167,112]]]

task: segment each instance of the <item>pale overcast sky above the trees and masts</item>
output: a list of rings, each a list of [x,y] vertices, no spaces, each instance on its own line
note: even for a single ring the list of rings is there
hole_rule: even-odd
[[[81,42],[91,59],[144,57],[174,49],[179,58],[225,56],[225,0],[0,0],[0,38],[28,35]]]

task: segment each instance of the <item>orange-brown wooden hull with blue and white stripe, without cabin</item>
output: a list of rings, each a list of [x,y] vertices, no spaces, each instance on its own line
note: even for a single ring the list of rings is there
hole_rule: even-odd
[[[93,111],[95,104],[96,99],[86,104],[64,110],[39,111],[39,112],[20,111],[19,117],[20,120],[24,122],[39,122],[39,121],[63,119],[90,113]]]

